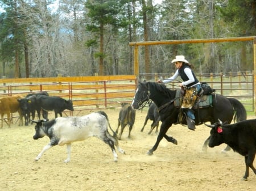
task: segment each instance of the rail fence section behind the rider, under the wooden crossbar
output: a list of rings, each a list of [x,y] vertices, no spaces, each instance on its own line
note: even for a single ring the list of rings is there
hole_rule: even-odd
[[[140,74],[139,79],[153,80],[167,79],[172,74]],[[207,82],[217,94],[226,97],[234,97],[245,105],[247,112],[254,112],[254,71],[246,71],[244,73],[220,73],[220,74],[196,74],[200,82]],[[178,79],[181,80],[181,79]],[[171,89],[177,88],[177,81],[168,83]]]

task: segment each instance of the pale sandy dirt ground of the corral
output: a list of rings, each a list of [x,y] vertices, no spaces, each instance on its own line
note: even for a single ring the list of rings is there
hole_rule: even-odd
[[[119,109],[105,112],[115,130]],[[63,162],[67,158],[66,146],[51,148],[35,162],[49,139],[34,140],[34,125],[3,126],[0,129],[0,189],[255,190],[256,176],[251,169],[248,181],[241,181],[245,172],[241,155],[233,151],[221,154],[225,145],[208,148],[207,153],[201,150],[210,131],[205,125],[197,126],[196,131],[181,125],[172,126],[168,135],[176,138],[178,145],[163,139],[154,155],[148,156],[146,152],[154,145],[156,134],[147,134],[151,121],[141,132],[146,113],[146,110],[137,111],[130,139],[126,127],[119,141],[126,154],[118,152],[117,163],[109,146],[94,137],[74,142],[71,162],[67,164]]]

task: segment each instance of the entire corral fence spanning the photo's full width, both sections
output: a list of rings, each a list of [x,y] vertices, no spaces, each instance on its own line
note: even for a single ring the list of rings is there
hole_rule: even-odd
[[[170,77],[172,74],[140,74],[139,79],[156,81]],[[235,97],[245,105],[247,112],[254,112],[254,75],[246,73],[197,74],[200,82],[207,82],[217,94]],[[50,96],[60,96],[73,101],[74,112],[66,115],[78,115],[81,111],[117,108],[118,101],[131,102],[137,88],[134,75],[107,77],[57,77],[57,78],[26,78],[0,79],[0,97],[31,92],[47,91]],[[168,83],[167,87],[177,88],[176,82]],[[14,114],[16,116],[16,114]]]

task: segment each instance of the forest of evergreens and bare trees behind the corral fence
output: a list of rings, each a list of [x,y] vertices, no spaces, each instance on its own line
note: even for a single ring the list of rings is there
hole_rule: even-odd
[[[0,0],[0,75],[134,74],[131,42],[256,35],[255,0]],[[139,48],[139,73],[254,70],[253,41]]]

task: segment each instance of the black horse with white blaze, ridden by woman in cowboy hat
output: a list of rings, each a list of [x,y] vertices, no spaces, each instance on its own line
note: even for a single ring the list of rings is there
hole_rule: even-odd
[[[175,138],[166,135],[167,130],[178,120],[179,108],[176,108],[173,104],[176,91],[177,90],[168,89],[163,83],[139,82],[138,84],[131,106],[134,109],[139,109],[143,107],[145,101],[151,99],[158,107],[159,116],[162,121],[156,143],[147,152],[148,155],[153,154],[163,137],[166,138],[168,142],[177,145]],[[195,117],[196,125],[208,121],[213,124],[214,122],[217,122],[218,119],[230,124],[233,117],[234,121],[246,120],[246,110],[242,103],[237,99],[214,94],[212,107],[201,108],[199,111],[195,111]],[[205,140],[203,150],[207,150],[209,138],[210,137]],[[225,148],[225,150],[230,150],[230,147]]]

